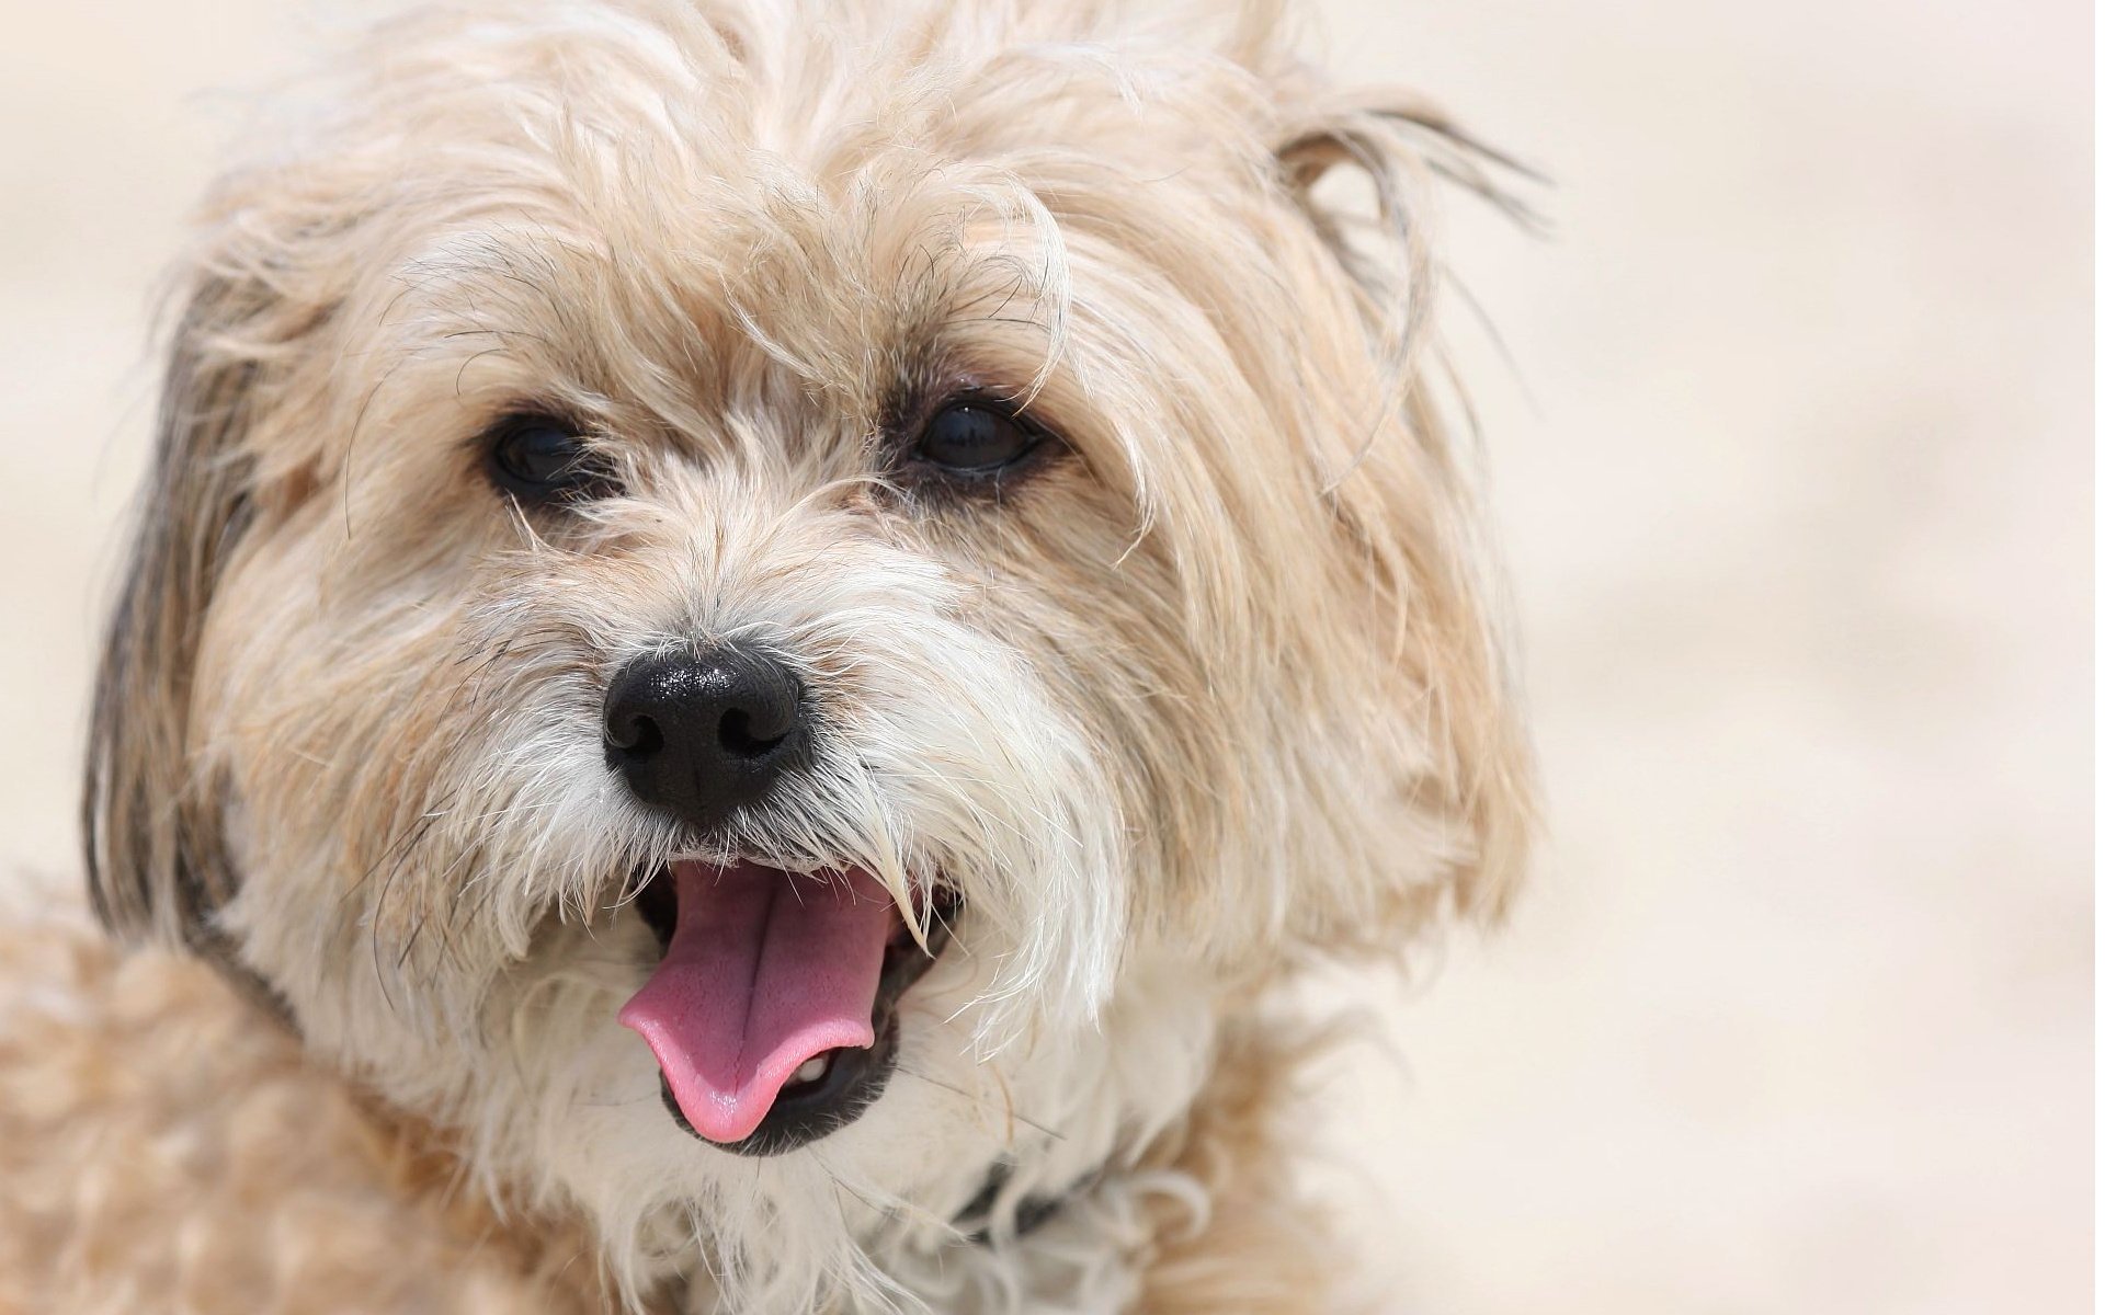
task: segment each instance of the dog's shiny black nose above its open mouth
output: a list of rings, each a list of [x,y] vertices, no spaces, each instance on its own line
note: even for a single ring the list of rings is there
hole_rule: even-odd
[[[808,755],[804,686],[726,644],[629,663],[606,688],[606,762],[644,804],[705,831]]]

